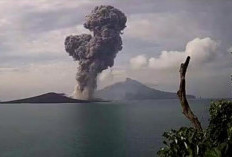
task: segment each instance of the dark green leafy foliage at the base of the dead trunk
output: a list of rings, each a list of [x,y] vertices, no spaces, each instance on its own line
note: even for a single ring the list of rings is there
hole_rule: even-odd
[[[232,155],[232,102],[212,102],[209,126],[199,131],[182,127],[165,132],[160,157],[229,157]]]

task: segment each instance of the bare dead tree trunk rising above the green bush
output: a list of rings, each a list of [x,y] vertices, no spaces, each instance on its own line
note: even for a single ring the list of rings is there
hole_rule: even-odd
[[[190,57],[188,56],[185,63],[180,65],[180,88],[177,92],[177,95],[180,99],[181,107],[183,109],[183,114],[191,121],[193,126],[198,129],[202,130],[201,123],[199,122],[197,116],[194,115],[191,108],[189,107],[187,98],[186,98],[186,90],[185,90],[185,74],[188,68],[188,64],[190,61]]]

